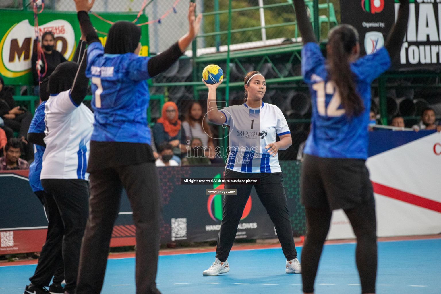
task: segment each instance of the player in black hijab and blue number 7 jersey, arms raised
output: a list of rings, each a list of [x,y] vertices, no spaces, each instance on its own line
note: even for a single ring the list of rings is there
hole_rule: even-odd
[[[127,192],[136,227],[136,293],[156,288],[160,245],[161,195],[147,127],[146,80],[170,67],[197,35],[202,15],[188,10],[188,33],[158,56],[138,56],[141,28],[115,22],[105,47],[90,22],[93,1],[75,0],[82,33],[89,44],[86,75],[91,78],[95,115],[90,143],[90,215],[84,234],[77,294],[101,292],[113,223],[122,189]]]

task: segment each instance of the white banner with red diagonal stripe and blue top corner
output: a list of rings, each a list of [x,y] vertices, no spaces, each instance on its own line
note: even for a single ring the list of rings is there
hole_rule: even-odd
[[[441,133],[375,131],[369,139],[378,237],[441,233]],[[355,238],[343,211],[334,211],[328,238]]]

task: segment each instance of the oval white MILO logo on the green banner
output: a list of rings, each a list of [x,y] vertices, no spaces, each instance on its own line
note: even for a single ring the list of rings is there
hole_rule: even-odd
[[[67,60],[75,52],[75,32],[72,25],[63,19],[56,19],[38,26],[39,36],[52,31],[55,35],[55,48]],[[31,58],[35,43],[34,26],[25,19],[12,26],[0,41],[0,74],[7,78],[17,78],[31,70]],[[44,69],[43,69],[44,72]]]

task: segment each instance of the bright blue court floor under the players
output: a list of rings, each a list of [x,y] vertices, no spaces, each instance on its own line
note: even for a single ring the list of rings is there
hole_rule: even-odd
[[[157,287],[163,294],[303,293],[301,275],[285,273],[280,248],[232,251],[230,272],[202,276],[213,261],[213,252],[160,256]],[[23,293],[35,267],[0,267],[0,294]],[[103,294],[135,294],[135,259],[109,260],[104,283]],[[315,293],[361,293],[355,244],[324,247]],[[379,242],[377,294],[441,294],[441,239]]]

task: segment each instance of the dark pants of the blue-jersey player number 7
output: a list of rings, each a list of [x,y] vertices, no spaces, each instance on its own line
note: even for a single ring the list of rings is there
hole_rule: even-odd
[[[81,247],[77,294],[101,292],[123,188],[136,227],[136,293],[161,293],[156,288],[161,194],[156,166],[148,162],[90,173],[90,215]]]

